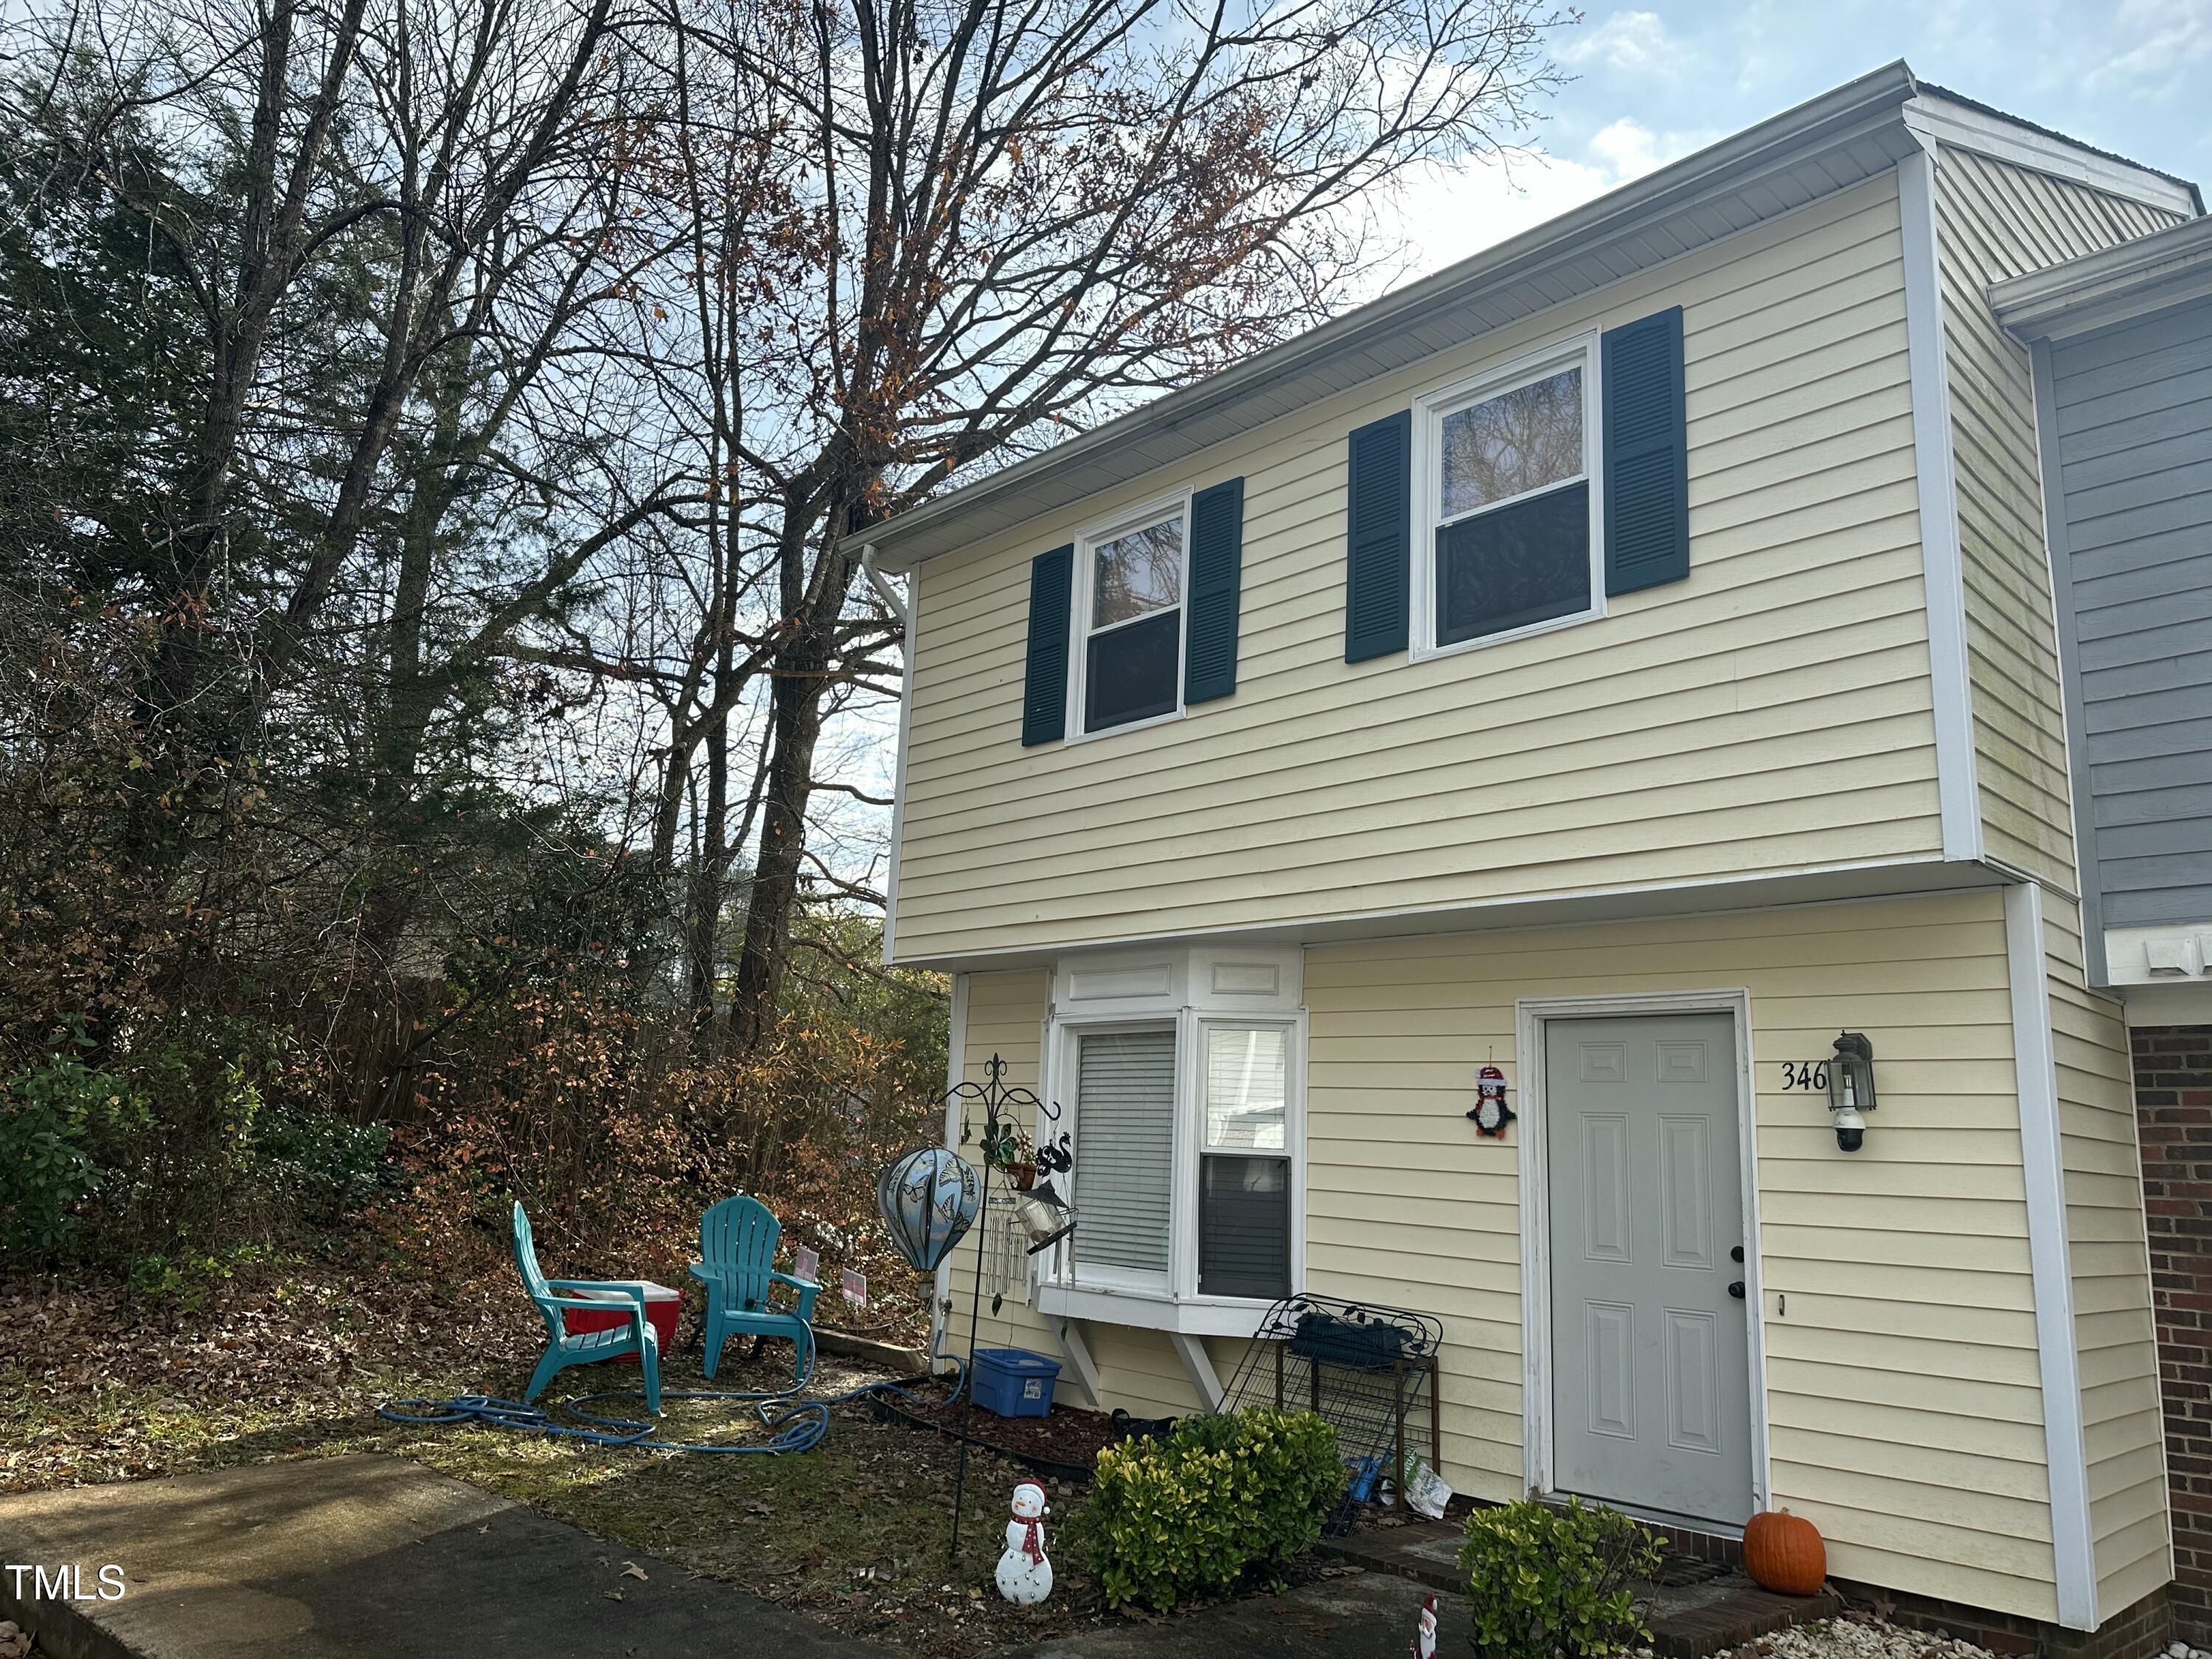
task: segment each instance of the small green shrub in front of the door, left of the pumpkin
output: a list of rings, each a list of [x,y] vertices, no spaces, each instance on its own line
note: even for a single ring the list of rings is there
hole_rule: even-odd
[[[1659,1566],[1657,1533],[1617,1509],[1522,1500],[1467,1517],[1460,1571],[1484,1659],[1601,1659],[1650,1630],[1635,1579]]]

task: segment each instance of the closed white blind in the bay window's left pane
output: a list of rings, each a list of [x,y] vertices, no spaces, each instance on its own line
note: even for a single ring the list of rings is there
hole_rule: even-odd
[[[1075,1062],[1075,1263],[1168,1272],[1175,1031],[1086,1033]]]

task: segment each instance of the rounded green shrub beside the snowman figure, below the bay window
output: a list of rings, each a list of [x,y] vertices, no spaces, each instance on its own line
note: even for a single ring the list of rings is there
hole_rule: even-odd
[[[1312,1548],[1343,1491],[1336,1429],[1312,1411],[1183,1418],[1166,1440],[1099,1453],[1091,1573],[1108,1606],[1168,1610]]]

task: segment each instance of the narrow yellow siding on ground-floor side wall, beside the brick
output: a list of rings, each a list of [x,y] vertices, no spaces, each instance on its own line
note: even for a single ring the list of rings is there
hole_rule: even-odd
[[[2044,905],[2088,1517],[2112,1617],[2172,1577],[2150,1245],[2128,1031],[2119,1004],[2084,989],[2077,907]]]

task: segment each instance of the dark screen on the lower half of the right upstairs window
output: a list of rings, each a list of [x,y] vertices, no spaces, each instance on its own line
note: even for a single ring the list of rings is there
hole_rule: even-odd
[[[1480,639],[1590,608],[1590,484],[1436,533],[1436,644]]]

